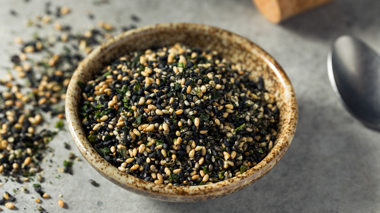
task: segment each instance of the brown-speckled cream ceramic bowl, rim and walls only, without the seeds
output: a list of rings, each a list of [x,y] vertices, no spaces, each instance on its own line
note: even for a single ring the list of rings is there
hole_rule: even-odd
[[[167,186],[148,182],[119,171],[104,160],[85,137],[79,118],[81,89],[78,81],[87,82],[104,65],[126,52],[146,50],[153,46],[176,42],[205,50],[216,50],[233,63],[262,76],[266,89],[276,99],[280,109],[277,140],[269,154],[242,175],[202,186]],[[171,202],[196,202],[237,192],[264,177],[284,156],[293,139],[298,119],[297,100],[293,87],[280,65],[264,50],[247,38],[219,28],[189,24],[167,23],[127,31],[97,47],[78,66],[66,93],[66,119],[70,133],[84,158],[103,176],[133,193]]]

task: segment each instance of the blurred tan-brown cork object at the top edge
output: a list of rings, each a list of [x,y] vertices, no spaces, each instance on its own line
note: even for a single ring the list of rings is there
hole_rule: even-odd
[[[332,0],[252,0],[260,13],[273,23],[318,7]]]

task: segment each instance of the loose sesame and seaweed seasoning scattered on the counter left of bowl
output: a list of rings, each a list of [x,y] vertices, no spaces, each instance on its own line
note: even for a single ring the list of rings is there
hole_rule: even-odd
[[[59,20],[70,15],[70,7],[53,7],[50,2],[44,7],[44,14],[26,21],[26,25],[36,28],[37,33],[29,38],[27,35],[14,38],[19,53],[10,55],[13,66],[6,68],[8,74],[0,80],[0,174],[4,184],[8,180],[45,184],[40,162],[46,161],[47,154],[53,154],[49,142],[59,131],[65,130],[65,121],[61,119],[65,119],[63,101],[71,75],[94,47],[111,37],[111,31],[125,31],[125,28],[116,29],[103,22],[99,29],[90,27],[81,34],[73,33],[70,25]],[[10,14],[15,18],[19,15],[15,10],[10,10]],[[129,29],[134,27],[131,25]],[[39,28],[46,31],[50,28],[54,34],[40,36]],[[52,118],[60,120],[50,124]],[[64,147],[70,149],[67,143]],[[69,159],[64,162],[63,171],[72,173],[73,160],[80,159],[73,155]],[[48,197],[40,184],[30,184],[29,187],[33,185],[36,191],[32,194]],[[15,195],[19,192],[27,193],[27,185],[14,189]],[[14,208],[13,200],[15,197],[5,193],[0,205]],[[39,198],[35,201],[40,202]],[[45,211],[40,206],[37,209]]]

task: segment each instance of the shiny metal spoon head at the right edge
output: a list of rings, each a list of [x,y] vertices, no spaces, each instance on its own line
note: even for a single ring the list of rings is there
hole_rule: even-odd
[[[347,110],[364,125],[380,130],[380,57],[361,40],[337,38],[328,53],[330,82]]]

